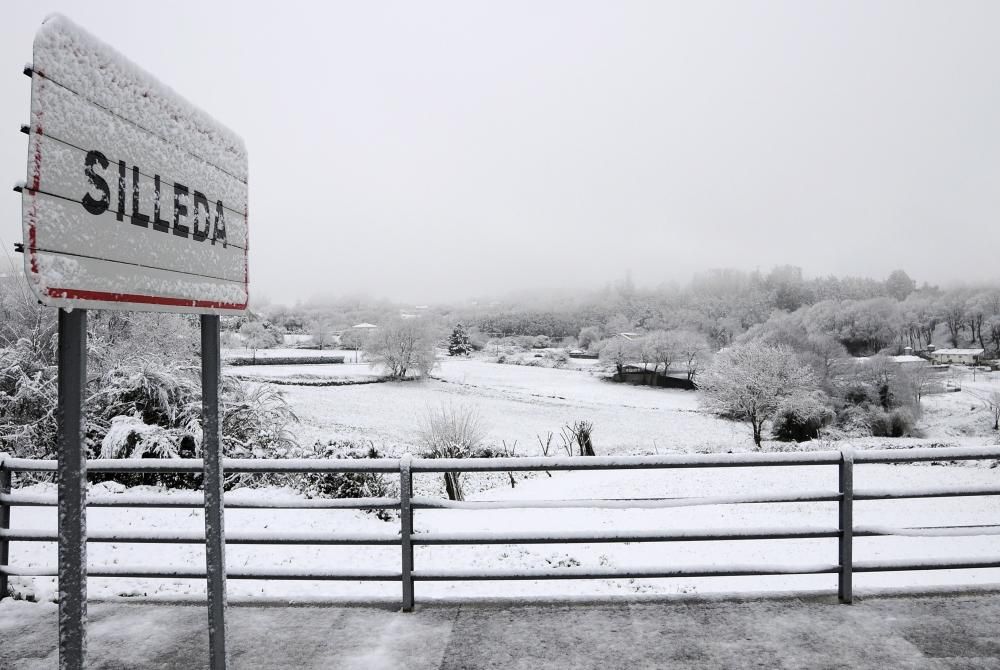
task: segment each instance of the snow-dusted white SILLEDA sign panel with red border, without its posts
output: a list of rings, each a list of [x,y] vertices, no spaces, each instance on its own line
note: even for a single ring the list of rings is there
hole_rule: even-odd
[[[243,141],[62,16],[35,36],[24,265],[46,305],[246,308]]]

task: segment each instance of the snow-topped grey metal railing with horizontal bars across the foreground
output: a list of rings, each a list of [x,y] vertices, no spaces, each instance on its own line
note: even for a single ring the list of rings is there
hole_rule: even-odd
[[[228,474],[277,474],[277,473],[345,473],[366,472],[396,474],[399,476],[398,498],[351,499],[284,499],[284,500],[227,500],[229,509],[395,509],[400,513],[400,534],[328,534],[318,532],[262,533],[229,532],[228,544],[249,545],[362,545],[399,546],[399,570],[320,570],[315,568],[230,569],[229,579],[245,580],[341,580],[341,581],[398,581],[402,586],[402,609],[413,609],[414,584],[424,581],[483,581],[483,580],[552,580],[552,579],[649,579],[676,577],[734,577],[764,575],[838,575],[838,596],[841,602],[853,598],[852,579],[855,572],[891,572],[905,570],[948,570],[971,568],[1000,568],[1000,550],[997,556],[974,559],[930,560],[866,560],[853,559],[855,537],[884,535],[1000,535],[1000,525],[948,526],[938,528],[892,529],[881,527],[856,527],[853,522],[854,504],[868,500],[902,500],[956,496],[1000,495],[1000,481],[989,486],[953,486],[936,489],[862,489],[854,488],[854,467],[862,464],[918,463],[930,461],[1000,459],[1000,448],[939,448],[898,449],[854,452],[804,452],[775,454],[705,454],[623,457],[569,457],[569,458],[470,458],[470,459],[420,459],[409,455],[400,459],[378,460],[247,460],[225,459]],[[597,500],[523,500],[523,501],[448,501],[418,497],[413,494],[413,478],[417,474],[444,472],[531,472],[576,470],[668,470],[678,468],[753,468],[829,466],[837,471],[837,487],[824,491],[799,491],[793,493],[764,493],[743,496],[597,499]],[[93,460],[87,464],[91,474],[108,473],[200,473],[202,463],[196,459],[185,460]],[[0,460],[0,597],[8,592],[8,577],[56,576],[52,568],[20,568],[10,565],[9,546],[12,542],[55,542],[57,533],[52,530],[12,529],[11,510],[14,507],[55,506],[52,495],[11,492],[12,473],[55,472],[55,461],[28,460],[2,457]],[[831,473],[832,475],[832,473]],[[831,476],[831,483],[833,478]],[[566,532],[509,532],[509,533],[415,533],[414,516],[418,510],[497,510],[497,509],[666,509],[704,505],[752,505],[767,503],[836,502],[837,524],[829,527],[772,527],[730,528],[704,530],[644,530],[644,531],[566,531]],[[174,493],[171,495],[116,494],[91,495],[89,507],[125,508],[200,508],[203,497],[199,493]],[[703,542],[742,540],[790,540],[837,538],[836,560],[824,564],[807,565],[726,565],[677,568],[658,565],[643,568],[585,568],[522,570],[441,570],[416,566],[414,548],[435,545],[518,545],[518,544],[579,544],[579,543],[644,543],[644,542]],[[201,532],[95,531],[88,542],[202,544]],[[92,577],[137,578],[205,578],[204,570],[186,568],[161,568],[140,566],[94,566],[88,571]]]

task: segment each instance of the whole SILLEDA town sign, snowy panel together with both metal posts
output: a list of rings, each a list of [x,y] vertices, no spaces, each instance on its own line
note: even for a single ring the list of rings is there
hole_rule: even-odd
[[[87,309],[202,316],[211,667],[226,667],[219,315],[246,309],[243,140],[59,15],[33,45],[24,273],[59,308],[59,662],[86,651]],[[3,482],[0,482],[2,485]],[[3,519],[0,519],[2,521]]]

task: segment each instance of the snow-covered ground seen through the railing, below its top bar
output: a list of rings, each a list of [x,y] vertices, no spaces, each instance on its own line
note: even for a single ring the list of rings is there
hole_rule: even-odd
[[[988,467],[861,465],[856,487],[909,489],[945,485],[995,484],[1000,470]],[[432,477],[433,475],[418,475]],[[478,500],[527,501],[579,498],[642,498],[662,496],[745,495],[761,492],[835,491],[836,468],[686,469],[673,471],[623,471],[553,473],[523,480],[471,496]],[[36,485],[29,491],[51,489]],[[107,494],[114,486],[99,485]],[[121,495],[128,495],[123,493]],[[248,490],[237,496],[262,498],[296,495],[280,490]],[[565,532],[572,530],[662,530],[761,527],[835,527],[834,503],[784,503],[712,505],[672,509],[536,509],[420,510],[417,533],[425,532]],[[906,528],[967,524],[995,524],[1000,499],[970,497],[917,501],[871,501],[855,505],[855,525]],[[46,508],[15,508],[14,528],[55,527],[55,513]],[[240,510],[226,513],[229,532],[324,532],[330,534],[376,533],[396,535],[398,521],[383,522],[373,515],[328,510]],[[200,510],[95,508],[88,527],[94,530],[202,529]],[[155,549],[153,549],[155,547]],[[203,549],[197,545],[127,545],[93,543],[91,565],[174,566],[200,568]],[[920,558],[1000,558],[1000,536],[856,538],[855,560]],[[231,545],[231,568],[295,568],[398,570],[398,547],[265,547]],[[55,547],[42,543],[13,543],[11,563],[22,566],[53,565]],[[834,539],[773,541],[711,541],[632,544],[575,544],[519,546],[435,546],[416,549],[419,569],[552,569],[685,567],[724,565],[813,565],[837,562]],[[928,585],[981,585],[1000,582],[1000,570],[960,570],[857,574],[858,588]],[[55,594],[51,578],[12,578],[16,594],[49,599]],[[687,579],[626,579],[591,582],[442,582],[420,583],[418,598],[454,598],[527,595],[671,594],[733,591],[826,590],[835,588],[832,575],[776,577],[717,577]],[[398,583],[240,581],[230,583],[230,593],[242,597],[397,597]],[[204,592],[198,580],[100,579],[90,584],[94,597],[197,596]]]

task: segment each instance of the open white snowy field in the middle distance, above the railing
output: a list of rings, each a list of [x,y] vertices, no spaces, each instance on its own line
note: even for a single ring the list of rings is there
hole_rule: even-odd
[[[444,360],[432,377],[282,391],[302,420],[294,429],[300,442],[371,440],[391,455],[416,449],[423,417],[443,404],[474,407],[487,441],[516,441],[521,456],[540,453],[537,437],[544,440],[549,432],[555,434],[553,455],[561,453],[560,428],[578,420],[593,422],[594,444],[604,455],[742,450],[749,444],[744,426],[700,412],[693,393],[614,384],[596,372]]]

